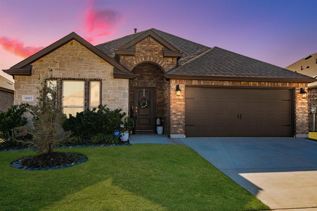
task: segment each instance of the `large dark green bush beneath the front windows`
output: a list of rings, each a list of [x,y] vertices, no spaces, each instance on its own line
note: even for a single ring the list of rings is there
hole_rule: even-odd
[[[76,117],[69,115],[63,123],[65,131],[71,131],[73,136],[94,137],[97,134],[113,134],[115,130],[130,130],[132,120],[125,117],[122,109],[111,111],[107,105],[99,105],[98,110],[85,110],[76,114]],[[123,120],[123,121],[122,121]],[[124,128],[120,128],[124,124]]]

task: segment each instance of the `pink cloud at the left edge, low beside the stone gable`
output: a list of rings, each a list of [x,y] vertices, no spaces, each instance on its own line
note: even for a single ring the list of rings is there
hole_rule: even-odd
[[[44,48],[33,46],[24,47],[23,42],[8,37],[0,37],[0,45],[3,47],[4,50],[23,58],[29,57],[30,55],[35,54],[36,52]]]

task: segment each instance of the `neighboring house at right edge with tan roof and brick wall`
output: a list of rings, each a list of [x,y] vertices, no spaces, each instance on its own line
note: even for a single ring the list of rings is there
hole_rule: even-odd
[[[299,61],[285,67],[288,70],[308,75],[310,77],[317,77],[317,53],[308,55]],[[314,115],[311,112],[312,107],[317,106],[317,82],[308,84],[308,116],[309,116],[309,130],[314,130]],[[315,115],[315,131],[317,129],[317,115]]]

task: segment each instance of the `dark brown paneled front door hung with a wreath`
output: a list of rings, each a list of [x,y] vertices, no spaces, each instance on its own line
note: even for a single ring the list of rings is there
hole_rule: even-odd
[[[139,102],[147,99],[150,105],[146,108],[140,108]],[[153,131],[154,130],[154,88],[135,88],[134,96],[135,130],[136,131]]]

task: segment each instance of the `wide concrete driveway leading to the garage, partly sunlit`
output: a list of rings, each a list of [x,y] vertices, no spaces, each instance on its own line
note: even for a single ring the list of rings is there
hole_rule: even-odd
[[[317,210],[317,142],[304,138],[180,140],[271,209]]]

